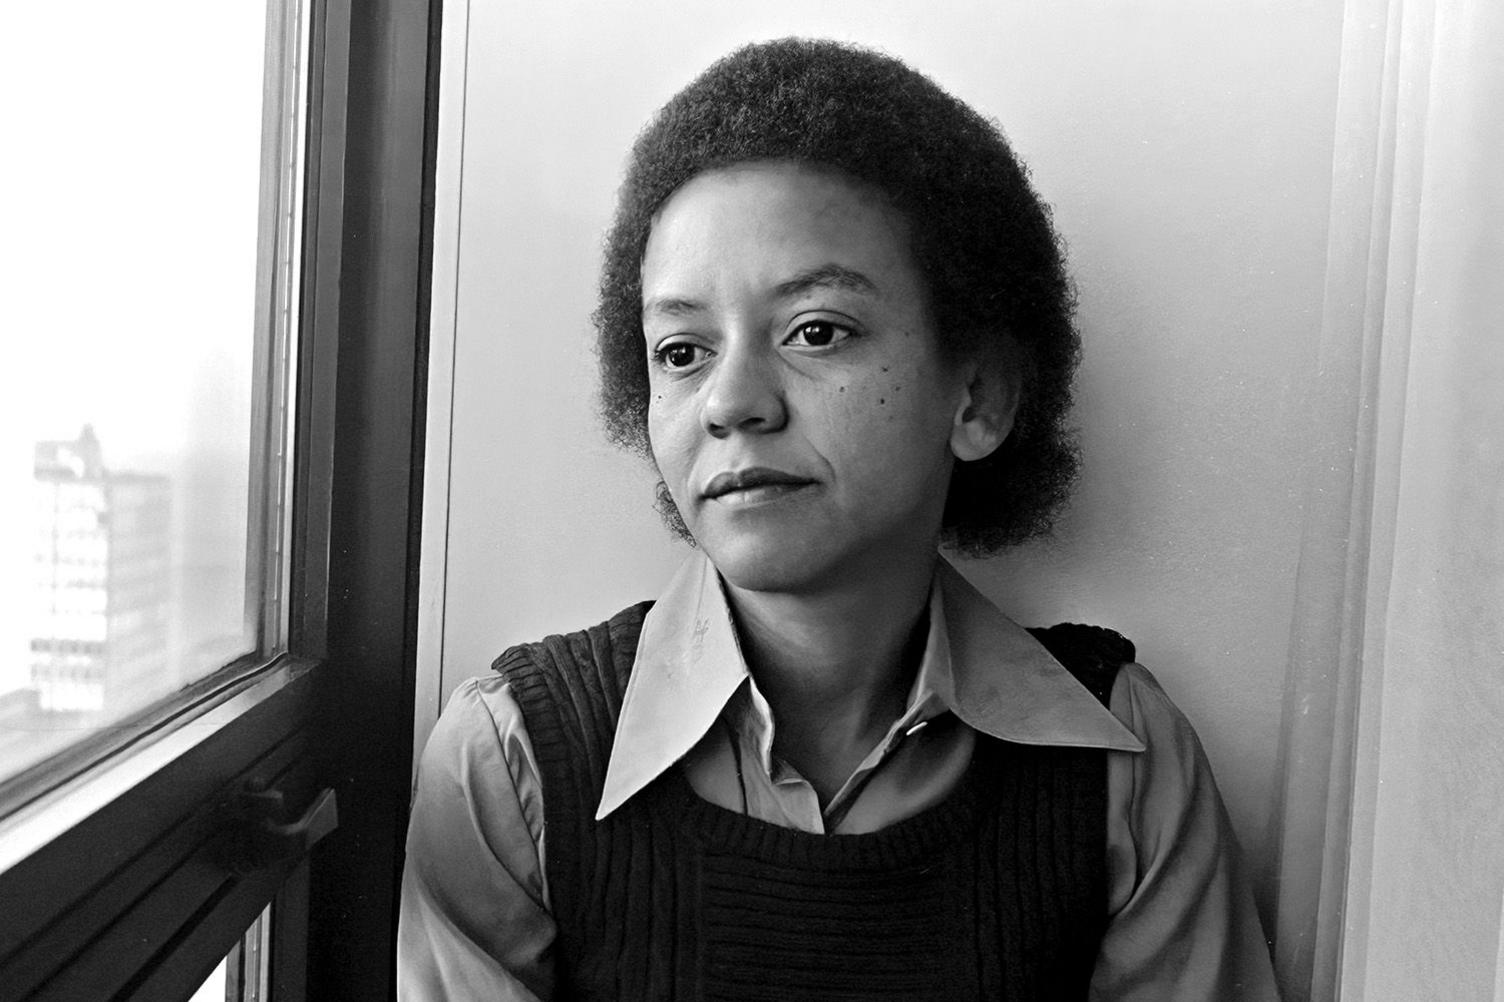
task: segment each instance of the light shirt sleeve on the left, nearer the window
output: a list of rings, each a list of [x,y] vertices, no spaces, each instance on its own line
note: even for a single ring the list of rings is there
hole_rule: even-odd
[[[397,931],[400,1002],[553,991],[543,797],[499,677],[460,683],[418,766]]]

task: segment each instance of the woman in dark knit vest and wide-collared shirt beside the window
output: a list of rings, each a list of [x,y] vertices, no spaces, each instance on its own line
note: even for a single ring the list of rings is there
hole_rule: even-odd
[[[406,999],[1268,999],[1190,725],[1133,645],[937,557],[1039,536],[1078,339],[997,129],[785,39],[633,147],[603,414],[698,548],[513,648],[420,770]]]

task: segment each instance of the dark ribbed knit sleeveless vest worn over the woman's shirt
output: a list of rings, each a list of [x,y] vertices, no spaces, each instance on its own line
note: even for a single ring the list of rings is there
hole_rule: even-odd
[[[543,782],[558,999],[1084,999],[1105,925],[1105,754],[978,736],[942,803],[814,835],[669,769],[594,820],[644,602],[493,668]],[[1030,630],[1104,704],[1133,645]]]

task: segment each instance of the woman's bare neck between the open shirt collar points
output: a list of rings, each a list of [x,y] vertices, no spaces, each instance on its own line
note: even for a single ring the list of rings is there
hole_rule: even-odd
[[[844,587],[726,594],[747,668],[773,710],[773,751],[821,803],[904,712],[923,654],[934,555]]]

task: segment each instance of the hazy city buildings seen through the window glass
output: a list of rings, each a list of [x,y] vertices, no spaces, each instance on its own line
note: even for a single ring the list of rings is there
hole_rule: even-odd
[[[0,776],[254,645],[248,474],[194,459],[177,478],[117,468],[92,424],[33,442],[26,659],[0,671]]]

